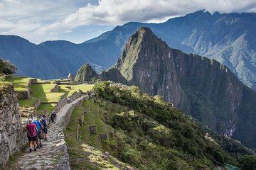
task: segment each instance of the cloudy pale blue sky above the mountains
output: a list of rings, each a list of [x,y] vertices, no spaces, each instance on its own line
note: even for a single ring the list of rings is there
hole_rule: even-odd
[[[256,12],[255,0],[0,0],[0,35],[33,43],[80,43],[129,21],[161,23],[206,9],[210,13]]]

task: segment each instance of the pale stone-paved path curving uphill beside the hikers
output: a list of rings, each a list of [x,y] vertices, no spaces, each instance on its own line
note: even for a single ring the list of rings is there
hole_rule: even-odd
[[[43,148],[36,152],[23,153],[16,164],[17,169],[70,169],[68,148],[64,140],[63,128],[75,106],[82,104],[87,96],[77,98],[66,104],[57,113],[56,123],[48,127],[48,142],[43,142]]]

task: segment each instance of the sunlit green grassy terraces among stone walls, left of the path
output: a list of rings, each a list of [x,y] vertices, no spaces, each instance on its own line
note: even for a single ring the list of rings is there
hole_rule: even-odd
[[[28,82],[31,78],[29,77],[9,77],[4,79],[0,77],[0,81],[2,81],[2,85],[4,84],[14,84],[15,91],[28,91]],[[43,112],[50,113],[53,111],[53,108],[56,106],[56,103],[62,98],[63,96],[71,96],[75,93],[75,91],[89,91],[92,89],[93,84],[78,84],[78,85],[60,85],[60,90],[58,92],[50,92],[51,89],[55,86],[54,80],[53,81],[43,81],[38,79],[38,83],[41,84],[32,84],[31,86],[31,98],[28,99],[21,99],[19,100],[19,104],[21,108],[24,107],[31,107],[33,108],[40,99],[41,105],[37,108],[39,114]]]

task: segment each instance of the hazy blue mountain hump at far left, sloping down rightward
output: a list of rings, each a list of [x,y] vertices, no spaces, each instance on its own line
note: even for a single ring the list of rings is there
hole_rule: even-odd
[[[42,47],[14,35],[0,35],[0,56],[18,67],[17,74],[30,77],[60,77],[54,68],[54,56]]]

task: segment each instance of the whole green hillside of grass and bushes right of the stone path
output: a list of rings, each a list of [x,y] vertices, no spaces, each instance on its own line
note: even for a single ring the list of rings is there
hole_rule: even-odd
[[[88,154],[94,152],[88,145],[110,152],[121,162],[139,169],[211,169],[215,164],[227,168],[240,166],[233,155],[217,144],[218,140],[207,136],[206,130],[195,120],[160,96],[153,98],[136,86],[110,81],[95,84],[93,92],[97,98],[90,98],[75,108],[65,132],[73,168],[84,166],[85,162],[94,168],[106,168],[90,162],[95,154]],[[79,125],[79,119],[85,124]],[[96,134],[90,133],[89,126],[96,126]],[[108,134],[108,139],[100,140],[100,134]]]

